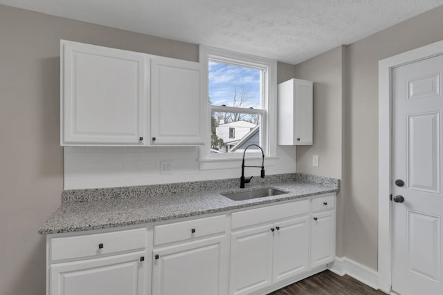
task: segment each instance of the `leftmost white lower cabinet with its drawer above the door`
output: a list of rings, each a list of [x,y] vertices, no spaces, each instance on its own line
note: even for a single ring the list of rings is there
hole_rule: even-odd
[[[48,236],[46,294],[145,295],[146,233],[139,228]]]

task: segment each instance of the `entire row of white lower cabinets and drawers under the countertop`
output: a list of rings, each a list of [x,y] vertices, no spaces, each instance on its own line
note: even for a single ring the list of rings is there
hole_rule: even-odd
[[[335,199],[49,235],[47,294],[268,294],[334,261]]]

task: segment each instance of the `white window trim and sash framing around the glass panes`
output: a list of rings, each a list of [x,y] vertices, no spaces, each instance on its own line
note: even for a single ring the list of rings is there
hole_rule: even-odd
[[[262,109],[265,110],[264,115],[262,115],[262,126],[264,126],[264,130],[261,130],[260,133],[263,134],[262,144],[265,151],[265,166],[272,166],[277,159],[276,151],[277,151],[277,61],[272,59],[266,59],[263,57],[255,57],[253,55],[245,55],[242,53],[234,53],[232,51],[223,50],[219,48],[213,48],[210,46],[200,46],[200,57],[199,61],[203,65],[204,68],[204,93],[206,97],[208,97],[208,61],[214,60],[219,61],[224,64],[232,64],[237,66],[246,66],[248,68],[257,68],[260,70],[264,70],[264,83],[262,85],[262,93],[263,93],[263,106]],[[267,106],[267,107],[266,107]],[[209,104],[205,104],[206,108],[206,126],[205,126],[205,134],[210,134],[210,124],[208,120],[210,119],[210,112],[214,107],[210,107]],[[218,109],[218,108],[217,108]],[[239,108],[244,113],[246,109]],[[257,110],[255,110],[257,111]],[[200,169],[228,169],[235,168],[239,165],[239,161],[242,159],[242,153],[226,153],[226,154],[217,154],[211,155],[210,149],[210,136],[206,136],[204,138],[204,146],[200,147]],[[261,162],[261,155],[249,155],[248,160],[251,160],[253,164],[254,161]]]

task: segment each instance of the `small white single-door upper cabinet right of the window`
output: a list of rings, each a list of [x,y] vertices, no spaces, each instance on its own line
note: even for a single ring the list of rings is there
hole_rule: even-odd
[[[300,79],[278,84],[277,144],[312,144],[312,86]]]

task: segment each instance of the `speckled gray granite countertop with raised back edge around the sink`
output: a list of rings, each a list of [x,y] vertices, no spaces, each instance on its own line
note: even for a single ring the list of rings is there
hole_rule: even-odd
[[[141,225],[199,216],[332,193],[338,191],[340,185],[339,180],[334,178],[300,173],[271,175],[267,178],[261,181],[257,178],[246,189],[239,189],[238,179],[235,178],[143,187],[64,191],[62,206],[39,228],[39,234]],[[260,187],[271,187],[288,193],[243,201],[230,200],[220,194]]]

